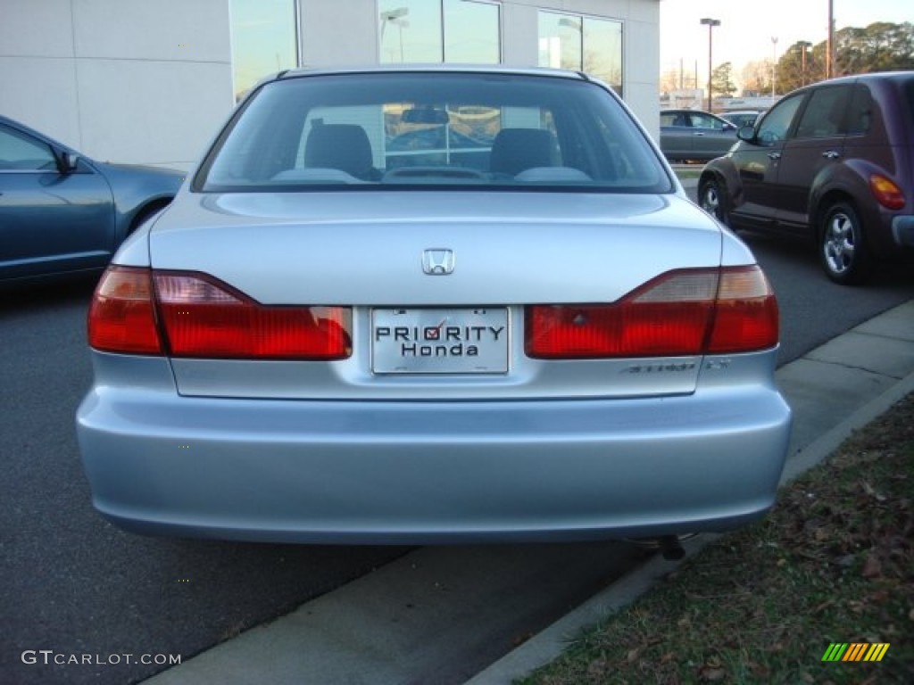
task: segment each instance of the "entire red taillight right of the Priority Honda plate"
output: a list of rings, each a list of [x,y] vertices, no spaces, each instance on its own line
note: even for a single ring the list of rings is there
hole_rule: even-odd
[[[778,306],[756,266],[671,271],[611,304],[526,308],[526,354],[543,359],[764,350]]]

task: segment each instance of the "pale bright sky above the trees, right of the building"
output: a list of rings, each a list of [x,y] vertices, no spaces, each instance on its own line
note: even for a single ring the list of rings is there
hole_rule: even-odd
[[[877,21],[914,22],[912,0],[833,0],[835,30]],[[828,0],[661,0],[660,68],[685,74],[698,64],[699,82],[707,80],[707,26],[702,17],[720,20],[713,37],[713,63],[733,63],[739,77],[749,61],[780,59],[798,40],[816,45],[827,37]],[[772,44],[771,37],[778,42]],[[773,49],[772,49],[773,48]]]

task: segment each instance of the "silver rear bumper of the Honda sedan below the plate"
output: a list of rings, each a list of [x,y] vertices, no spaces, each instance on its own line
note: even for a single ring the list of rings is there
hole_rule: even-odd
[[[338,402],[96,385],[93,501],[135,532],[287,543],[722,530],[775,497],[791,412],[765,385],[631,400]]]

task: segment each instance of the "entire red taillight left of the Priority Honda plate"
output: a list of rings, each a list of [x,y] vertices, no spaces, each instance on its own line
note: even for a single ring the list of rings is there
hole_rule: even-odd
[[[344,359],[351,328],[345,307],[266,306],[204,274],[125,267],[105,273],[90,309],[90,345],[117,353]]]

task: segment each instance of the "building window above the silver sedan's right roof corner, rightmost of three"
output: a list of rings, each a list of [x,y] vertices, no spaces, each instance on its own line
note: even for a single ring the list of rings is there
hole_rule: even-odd
[[[622,95],[622,22],[540,12],[539,66],[585,71]]]

